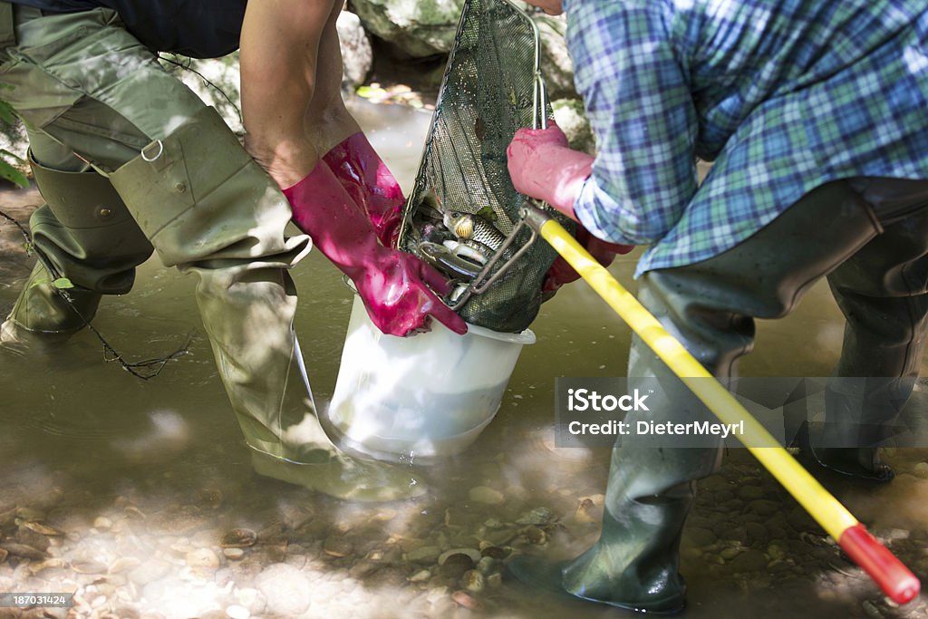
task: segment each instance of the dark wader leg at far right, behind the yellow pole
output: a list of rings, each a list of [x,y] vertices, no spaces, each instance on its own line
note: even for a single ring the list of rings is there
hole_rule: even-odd
[[[877,445],[909,400],[925,350],[928,208],[887,225],[828,280],[846,324],[839,380],[826,390],[825,428],[813,453],[831,470],[887,482],[893,471]]]

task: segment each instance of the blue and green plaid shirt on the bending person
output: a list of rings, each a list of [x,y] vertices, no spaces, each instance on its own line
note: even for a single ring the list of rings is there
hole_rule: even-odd
[[[822,183],[928,178],[926,0],[563,6],[599,147],[574,209],[651,245],[638,275],[726,251]]]

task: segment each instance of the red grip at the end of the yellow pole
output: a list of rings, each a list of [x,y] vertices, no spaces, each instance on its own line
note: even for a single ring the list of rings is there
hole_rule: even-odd
[[[922,589],[922,583],[915,574],[909,572],[909,568],[870,535],[860,522],[844,529],[838,544],[897,604],[913,600]]]

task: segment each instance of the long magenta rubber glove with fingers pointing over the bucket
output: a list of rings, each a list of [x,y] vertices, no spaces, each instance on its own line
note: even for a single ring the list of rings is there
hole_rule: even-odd
[[[467,332],[467,323],[428,288],[447,294],[445,277],[410,253],[380,245],[366,213],[324,161],[284,195],[293,222],[351,278],[378,329],[404,336],[428,330],[433,316],[456,333]]]

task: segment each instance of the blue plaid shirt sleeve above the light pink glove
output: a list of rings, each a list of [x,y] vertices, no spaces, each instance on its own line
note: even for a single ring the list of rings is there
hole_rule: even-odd
[[[574,211],[590,232],[616,243],[662,239],[697,189],[696,111],[663,6],[573,0],[568,7],[574,80],[598,145]]]

